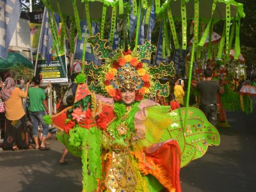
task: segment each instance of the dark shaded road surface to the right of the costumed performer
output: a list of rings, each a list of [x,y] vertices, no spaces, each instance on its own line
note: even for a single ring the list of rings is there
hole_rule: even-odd
[[[255,191],[256,113],[227,112],[221,143],[180,171],[182,191]]]

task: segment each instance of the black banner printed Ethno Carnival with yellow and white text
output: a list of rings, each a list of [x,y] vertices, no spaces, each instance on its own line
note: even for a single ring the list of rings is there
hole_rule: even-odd
[[[42,57],[38,57],[36,66],[36,76],[41,74],[44,83],[67,83],[67,63],[65,54],[61,56],[52,56],[51,63],[47,63]]]

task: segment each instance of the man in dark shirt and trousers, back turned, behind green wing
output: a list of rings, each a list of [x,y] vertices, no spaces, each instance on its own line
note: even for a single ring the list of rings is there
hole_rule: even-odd
[[[218,122],[217,93],[220,90],[220,84],[212,81],[212,70],[204,70],[205,80],[197,83],[197,90],[200,92],[199,108],[204,112],[209,122],[216,126]]]

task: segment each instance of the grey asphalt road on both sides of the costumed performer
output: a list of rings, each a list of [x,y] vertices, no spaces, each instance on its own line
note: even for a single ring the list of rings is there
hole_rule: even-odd
[[[219,127],[221,144],[180,170],[182,191],[255,191],[256,113],[227,112],[230,128]],[[82,163],[67,156],[58,163],[64,146],[50,140],[51,150],[0,151],[1,192],[76,192],[82,189]]]

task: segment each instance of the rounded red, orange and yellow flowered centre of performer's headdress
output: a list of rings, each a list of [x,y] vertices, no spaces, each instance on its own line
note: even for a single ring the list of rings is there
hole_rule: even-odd
[[[137,51],[120,49],[106,59],[99,76],[100,86],[110,97],[120,100],[121,90],[135,90],[136,100],[152,92],[154,85],[147,63],[142,63]]]

